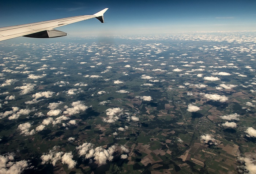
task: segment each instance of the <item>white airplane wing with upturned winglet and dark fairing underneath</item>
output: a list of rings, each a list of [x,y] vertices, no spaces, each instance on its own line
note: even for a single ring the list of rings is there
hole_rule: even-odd
[[[11,27],[0,28],[0,41],[12,39],[19,36],[34,37],[34,38],[51,38],[67,36],[67,33],[58,31],[54,28],[72,24],[82,20],[97,18],[101,23],[104,23],[103,14],[108,8],[95,13],[94,15],[83,15],[75,17],[67,17],[63,19],[48,20],[31,24],[15,25]]]

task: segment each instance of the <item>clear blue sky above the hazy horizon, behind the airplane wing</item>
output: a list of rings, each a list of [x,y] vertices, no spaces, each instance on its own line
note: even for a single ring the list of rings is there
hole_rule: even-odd
[[[72,35],[256,30],[255,0],[10,0],[1,3],[0,27],[92,15],[104,8],[109,8],[105,24],[90,19],[57,29]]]

